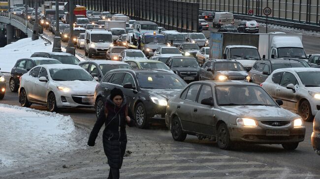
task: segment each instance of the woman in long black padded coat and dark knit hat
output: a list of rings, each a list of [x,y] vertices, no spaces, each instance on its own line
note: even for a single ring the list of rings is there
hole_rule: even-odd
[[[96,137],[104,123],[102,142],[110,166],[108,179],[119,179],[119,169],[127,147],[126,124],[132,127],[135,123],[121,89],[112,89],[104,106],[105,117],[97,119],[90,133],[88,145],[95,146]]]

